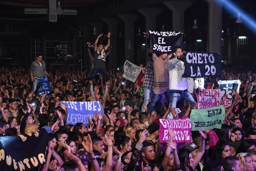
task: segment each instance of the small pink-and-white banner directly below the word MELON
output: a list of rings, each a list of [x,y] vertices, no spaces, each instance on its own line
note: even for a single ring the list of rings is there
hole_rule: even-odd
[[[210,107],[215,107],[216,106],[216,97],[204,97],[201,96],[197,93],[195,93],[196,98],[197,98],[197,108],[198,109],[205,109],[205,108],[210,108]]]

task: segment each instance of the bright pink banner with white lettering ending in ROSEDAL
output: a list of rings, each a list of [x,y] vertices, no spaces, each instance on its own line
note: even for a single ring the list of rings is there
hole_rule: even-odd
[[[159,139],[161,143],[165,143],[166,139],[170,139],[168,128],[172,128],[175,133],[174,139],[176,143],[191,142],[190,133],[192,122],[188,117],[180,119],[159,119]]]

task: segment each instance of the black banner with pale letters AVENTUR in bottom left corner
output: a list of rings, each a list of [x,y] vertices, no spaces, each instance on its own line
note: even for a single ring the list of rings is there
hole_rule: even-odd
[[[46,130],[25,135],[0,137],[0,170],[30,170],[46,161]]]

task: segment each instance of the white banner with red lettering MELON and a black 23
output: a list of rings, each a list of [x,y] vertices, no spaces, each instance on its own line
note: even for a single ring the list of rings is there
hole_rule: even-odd
[[[199,88],[199,95],[206,98],[216,97],[216,106],[220,105],[221,98],[224,95],[227,96],[227,100],[224,101],[223,106],[230,107],[232,104],[232,98],[233,98],[233,90],[232,89],[200,89]],[[201,107],[198,109],[201,109]]]

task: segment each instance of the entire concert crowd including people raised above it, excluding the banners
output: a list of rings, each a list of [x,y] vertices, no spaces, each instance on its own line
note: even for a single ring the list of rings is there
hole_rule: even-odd
[[[106,67],[108,46],[95,46],[93,67],[83,70],[71,70],[64,55],[63,67],[49,71],[41,54],[30,66],[0,68],[1,136],[48,133],[45,161],[33,170],[256,170],[255,64],[223,64],[221,77],[182,78],[183,51],[175,47],[172,54],[150,53],[131,82],[123,78],[122,67]],[[45,75],[51,92],[38,95]],[[177,143],[170,127],[169,139],[161,143],[159,119],[190,118],[198,109],[199,88],[219,89],[219,80],[238,80],[221,129],[191,131],[190,142]],[[66,124],[62,101],[99,101],[104,110],[86,123]]]

